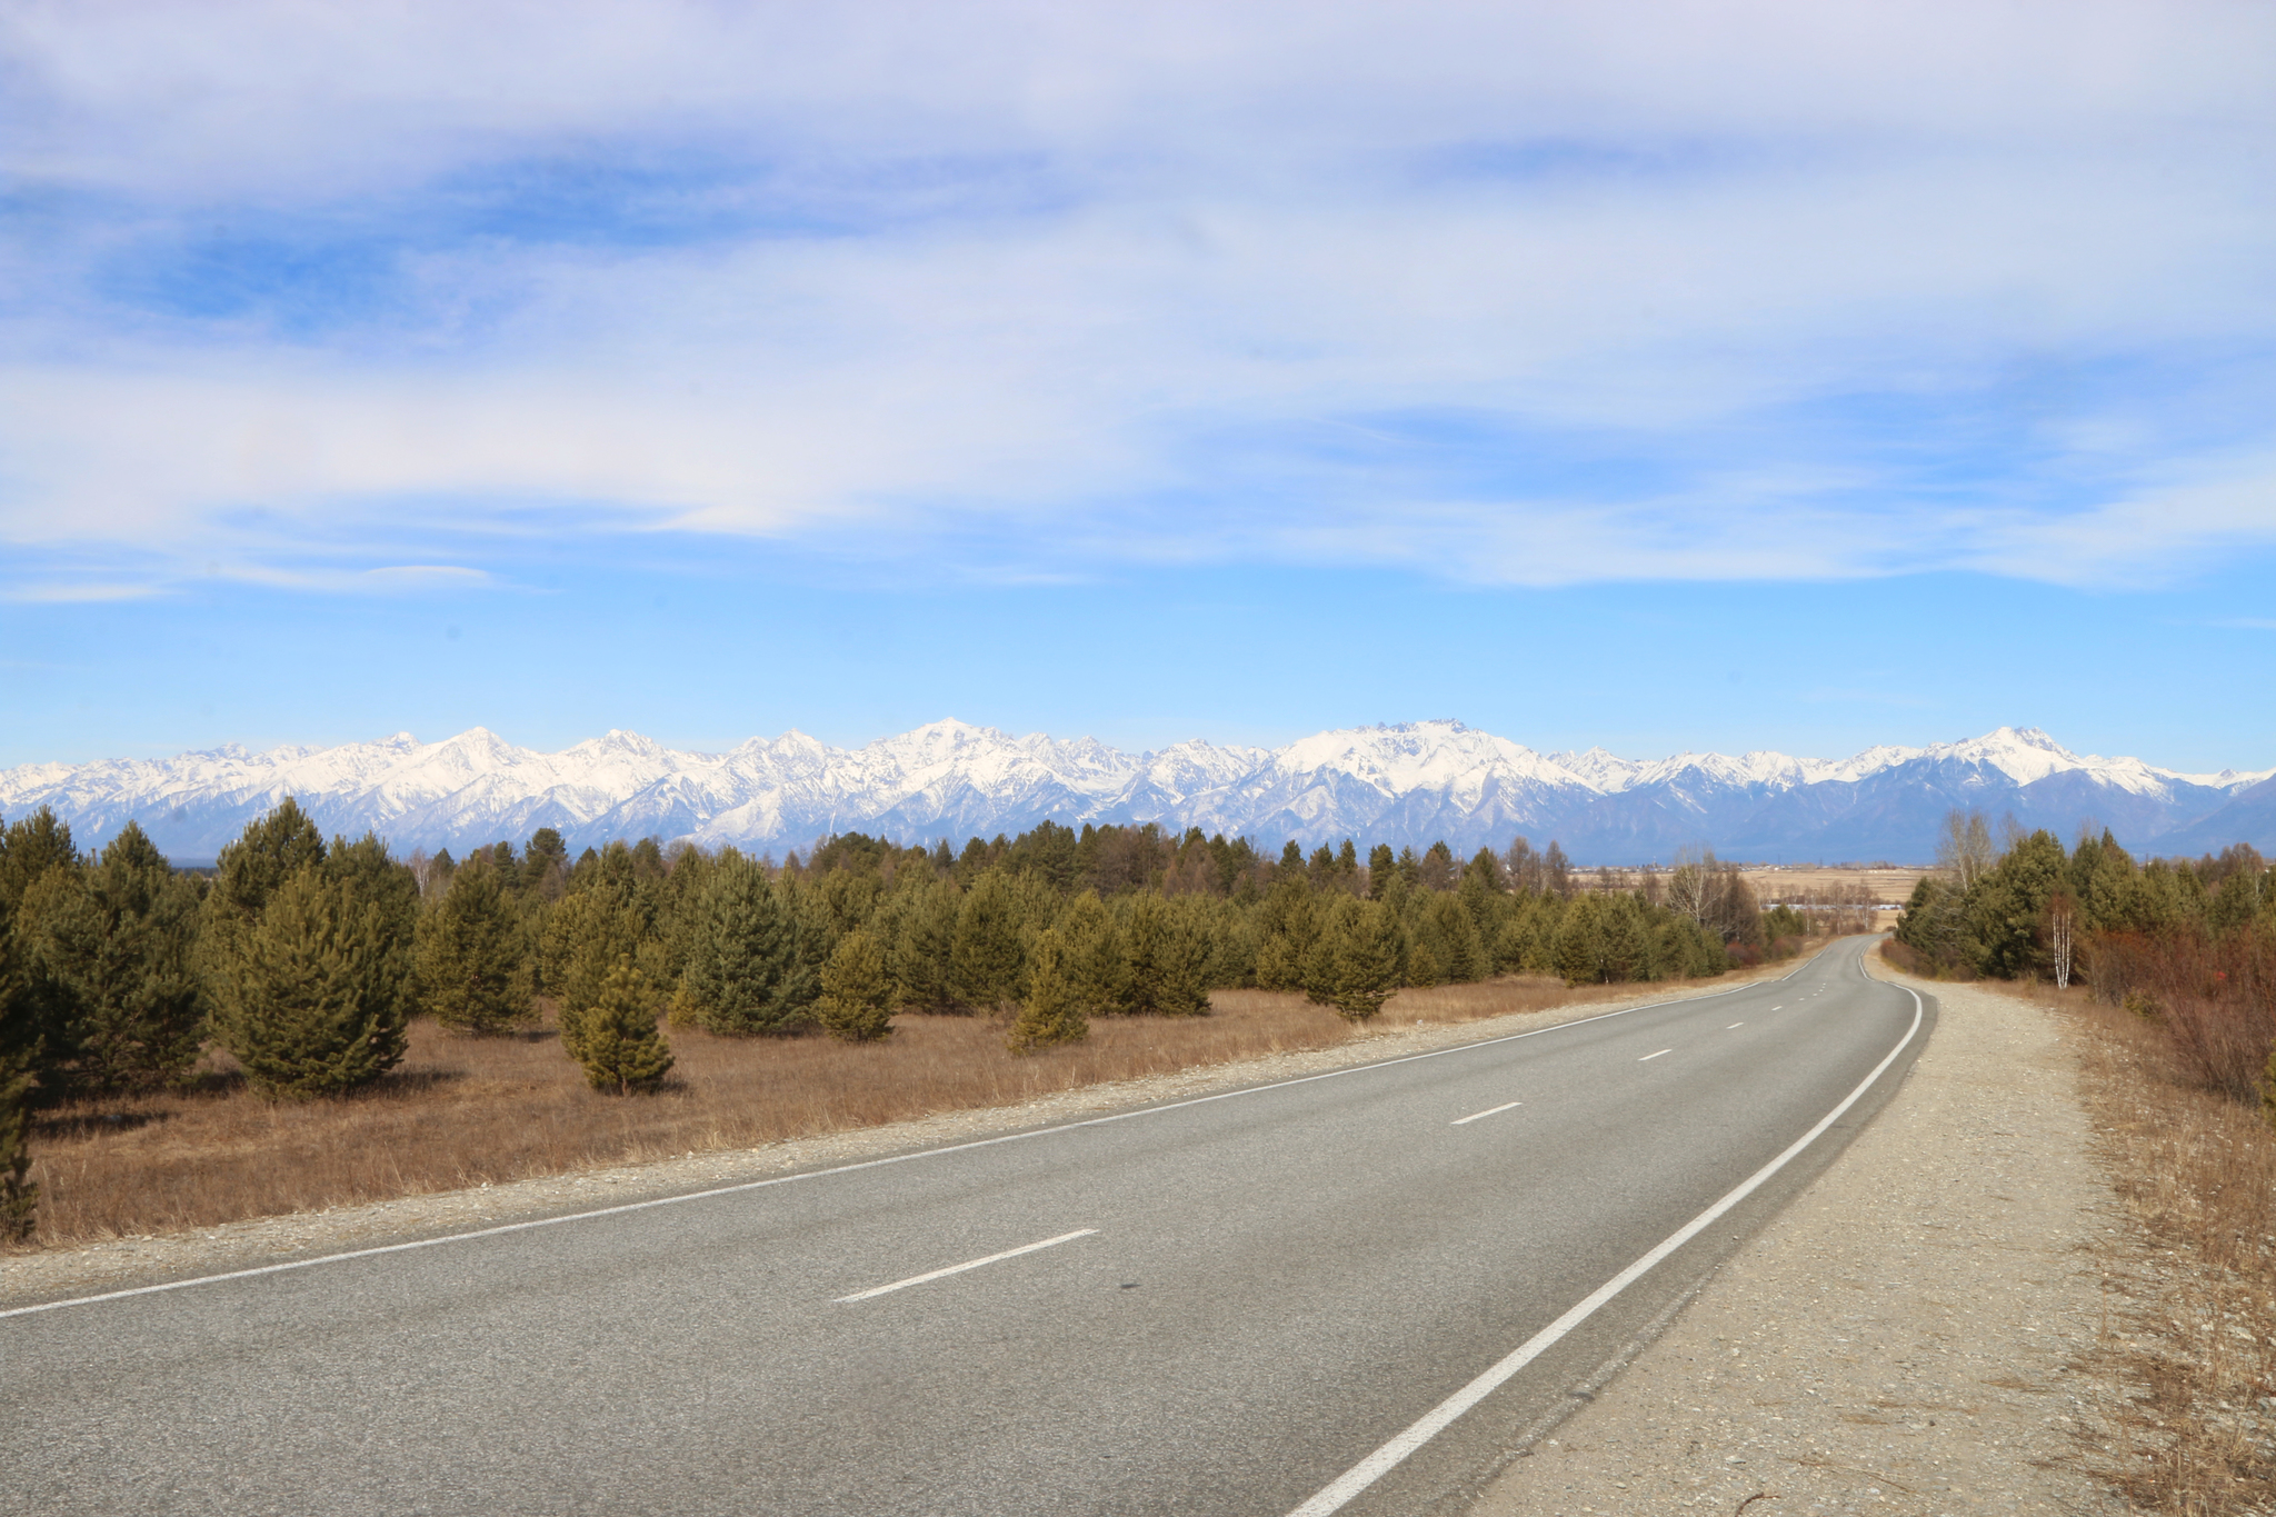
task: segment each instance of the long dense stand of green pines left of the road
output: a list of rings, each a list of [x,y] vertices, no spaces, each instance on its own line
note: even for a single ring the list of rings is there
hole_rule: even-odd
[[[630,1094],[669,1073],[669,1026],[867,1042],[897,1012],[988,1012],[1024,1053],[1231,987],[1363,1021],[1402,987],[1495,973],[1714,976],[1805,926],[1712,855],[1607,882],[1523,837],[1361,862],[1350,839],[1272,857],[1049,821],[963,851],[849,832],[783,862],[655,839],[571,860],[553,828],[396,860],[294,801],[193,876],[134,823],[82,855],[41,810],[0,830],[0,1221],[30,1215],[30,1108],[180,1083],[209,1046],[264,1094],[325,1096],[394,1069],[417,1014],[480,1035],[551,1008],[589,1083]]]

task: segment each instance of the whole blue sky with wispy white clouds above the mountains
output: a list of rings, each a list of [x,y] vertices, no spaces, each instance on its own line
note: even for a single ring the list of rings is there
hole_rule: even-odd
[[[0,0],[0,766],[2271,669],[2265,5]]]

